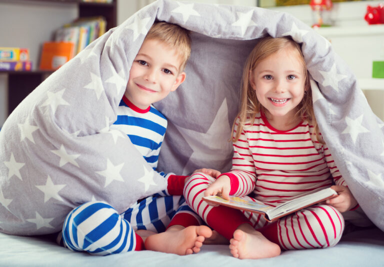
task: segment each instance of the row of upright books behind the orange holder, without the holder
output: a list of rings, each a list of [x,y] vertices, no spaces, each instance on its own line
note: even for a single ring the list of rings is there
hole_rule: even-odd
[[[102,16],[78,18],[64,24],[54,34],[55,41],[73,43],[73,56],[84,49],[106,31],[106,20]]]

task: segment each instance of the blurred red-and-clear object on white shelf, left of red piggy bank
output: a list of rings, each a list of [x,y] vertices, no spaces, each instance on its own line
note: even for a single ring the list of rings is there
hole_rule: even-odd
[[[310,0],[309,5],[312,9],[312,27],[330,26],[331,21],[331,0]]]

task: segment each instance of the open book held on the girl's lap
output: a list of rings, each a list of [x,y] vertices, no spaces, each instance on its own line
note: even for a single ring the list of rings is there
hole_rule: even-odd
[[[257,200],[253,201],[250,199],[237,197],[233,195],[229,195],[229,200],[225,200],[224,198],[221,198],[220,196],[217,196],[217,195],[204,196],[202,199],[204,199],[207,202],[217,203],[217,204],[229,206],[232,208],[260,213],[264,215],[267,221],[272,221],[272,220],[281,218],[285,215],[288,215],[292,212],[295,212],[297,210],[300,210],[302,208],[319,203],[325,199],[332,198],[336,195],[337,195],[336,191],[328,187],[313,193],[309,193],[309,194],[291,199],[275,207],[263,204]]]

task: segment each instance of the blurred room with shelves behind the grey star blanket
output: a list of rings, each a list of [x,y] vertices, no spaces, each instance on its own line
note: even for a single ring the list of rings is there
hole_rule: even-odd
[[[93,39],[154,0],[0,0],[0,127],[43,79]],[[348,63],[384,119],[383,1],[193,0],[259,6],[296,16]]]

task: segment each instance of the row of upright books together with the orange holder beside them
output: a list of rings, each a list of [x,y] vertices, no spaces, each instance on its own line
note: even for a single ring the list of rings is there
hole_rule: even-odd
[[[106,20],[102,16],[78,18],[63,25],[54,32],[53,41],[43,43],[40,69],[59,68],[105,30]]]

